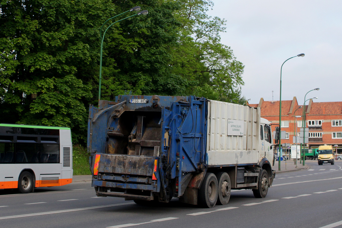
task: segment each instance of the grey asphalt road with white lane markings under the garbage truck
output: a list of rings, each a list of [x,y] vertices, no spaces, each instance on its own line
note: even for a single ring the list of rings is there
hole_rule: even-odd
[[[342,162],[279,173],[266,198],[233,190],[227,205],[211,209],[180,204],[141,206],[121,198],[96,197],[87,183],[0,191],[0,227],[301,227],[342,228]]]

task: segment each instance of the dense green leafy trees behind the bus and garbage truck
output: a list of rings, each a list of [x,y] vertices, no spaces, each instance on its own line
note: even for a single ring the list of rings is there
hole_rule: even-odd
[[[100,27],[135,5],[149,14],[106,31],[101,99],[132,90],[244,103],[244,66],[220,43],[225,21],[206,14],[210,0],[0,3],[0,122],[68,126],[84,144],[87,107],[98,98]]]

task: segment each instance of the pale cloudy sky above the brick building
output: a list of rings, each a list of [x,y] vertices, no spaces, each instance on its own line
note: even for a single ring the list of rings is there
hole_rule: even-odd
[[[249,104],[297,97],[299,105],[342,101],[341,0],[213,0],[207,13],[226,19],[221,43],[245,65]],[[306,102],[307,103],[307,102]]]

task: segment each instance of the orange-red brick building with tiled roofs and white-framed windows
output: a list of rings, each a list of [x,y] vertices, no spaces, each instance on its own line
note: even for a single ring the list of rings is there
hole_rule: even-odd
[[[264,101],[259,104],[248,104],[251,107],[261,107],[261,117],[273,124],[279,124],[279,100]],[[318,148],[319,145],[332,145],[334,151],[342,153],[342,102],[313,102],[312,99],[305,107],[298,105],[297,98],[281,101],[281,131],[286,131],[286,139],[281,143],[293,145],[293,136],[297,130],[299,136],[305,110],[306,127],[309,128],[306,149]],[[295,116],[301,116],[295,118]],[[297,123],[295,121],[297,120]],[[272,128],[274,130],[274,126]],[[337,145],[337,146],[336,146]],[[290,153],[290,147],[282,149],[283,154]]]

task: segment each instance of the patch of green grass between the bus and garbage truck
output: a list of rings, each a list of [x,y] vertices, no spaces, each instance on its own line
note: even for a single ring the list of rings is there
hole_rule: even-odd
[[[89,169],[89,156],[87,148],[73,145],[73,169],[74,175],[91,175]]]

